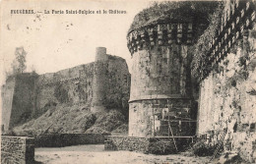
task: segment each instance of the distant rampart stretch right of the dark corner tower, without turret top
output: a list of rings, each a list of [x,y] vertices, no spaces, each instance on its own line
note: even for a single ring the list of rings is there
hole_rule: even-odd
[[[41,75],[36,81],[35,115],[53,109],[57,104],[76,104],[95,112],[106,108],[122,110],[128,106],[129,79],[125,60],[107,54],[104,61]]]

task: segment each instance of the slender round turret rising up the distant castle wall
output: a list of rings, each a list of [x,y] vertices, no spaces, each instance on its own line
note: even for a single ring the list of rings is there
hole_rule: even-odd
[[[102,112],[104,111],[106,87],[106,61],[108,56],[106,54],[105,47],[96,47],[96,62],[94,66],[94,80],[93,80],[93,102],[92,111]]]

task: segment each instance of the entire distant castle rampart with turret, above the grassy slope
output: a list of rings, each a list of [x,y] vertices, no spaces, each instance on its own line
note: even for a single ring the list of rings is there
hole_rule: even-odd
[[[93,112],[102,112],[96,110],[98,107],[125,110],[130,88],[127,64],[120,57],[107,55],[105,48],[96,52],[94,63],[57,73],[9,78],[2,89],[4,130],[24,123],[23,117],[40,116],[57,104],[79,105]]]

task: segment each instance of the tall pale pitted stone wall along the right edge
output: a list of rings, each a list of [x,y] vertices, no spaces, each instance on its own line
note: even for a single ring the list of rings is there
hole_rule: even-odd
[[[250,2],[225,2],[224,11],[227,12],[223,15],[222,27],[228,27],[231,24],[228,19],[234,20],[232,17],[238,18],[233,25],[241,27],[229,27],[227,31],[230,32],[220,29],[226,33],[218,35],[218,39],[229,38],[229,41],[219,47],[218,52],[223,52],[221,57],[200,82],[197,129],[197,134],[208,136],[208,142],[212,144],[221,139],[226,129],[224,150],[236,151],[251,163],[256,160],[256,26],[255,12],[249,14],[252,5]],[[233,15],[239,12],[240,17]],[[239,23],[239,20],[244,22]],[[225,35],[229,36],[226,38]]]

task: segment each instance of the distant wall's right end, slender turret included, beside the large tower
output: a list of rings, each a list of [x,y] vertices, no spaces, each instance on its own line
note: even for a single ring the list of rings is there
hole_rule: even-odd
[[[128,108],[128,66],[124,59],[105,53],[105,48],[96,48],[92,102],[94,112],[103,111],[105,108]]]

